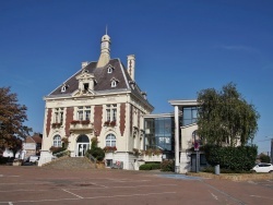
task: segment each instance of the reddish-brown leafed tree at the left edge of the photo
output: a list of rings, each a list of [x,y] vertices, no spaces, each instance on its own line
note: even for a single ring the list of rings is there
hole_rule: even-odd
[[[27,120],[26,106],[17,104],[17,95],[10,92],[10,87],[0,87],[0,148],[16,152],[32,129],[23,125]]]

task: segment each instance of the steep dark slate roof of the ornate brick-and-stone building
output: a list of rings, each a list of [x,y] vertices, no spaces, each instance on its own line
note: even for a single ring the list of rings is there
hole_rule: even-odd
[[[96,68],[97,62],[90,62],[84,70],[93,74],[95,79],[94,93],[116,93],[122,91],[131,91],[134,95],[144,99],[140,87],[132,81],[126,67],[121,63],[120,59],[111,59],[105,67]],[[111,73],[108,73],[108,68],[114,68]],[[68,79],[64,84],[67,85],[66,92],[61,92],[62,85],[58,86],[46,97],[66,97],[71,96],[79,88],[79,81],[76,76],[81,74],[83,69],[78,71],[74,75]],[[118,81],[116,87],[111,87],[111,80]],[[151,105],[150,105],[151,106]],[[151,106],[152,107],[152,106]]]

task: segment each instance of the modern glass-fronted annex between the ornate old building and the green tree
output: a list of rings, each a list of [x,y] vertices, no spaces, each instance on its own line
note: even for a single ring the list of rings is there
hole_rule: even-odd
[[[158,113],[144,116],[144,149],[161,149],[162,159],[178,159],[180,171],[195,171],[206,166],[204,154],[194,150],[194,143],[202,146],[201,138],[197,134],[198,105],[195,100],[182,100],[177,106],[177,130],[175,113]],[[176,132],[177,152],[176,156]],[[197,168],[199,164],[199,168]]]

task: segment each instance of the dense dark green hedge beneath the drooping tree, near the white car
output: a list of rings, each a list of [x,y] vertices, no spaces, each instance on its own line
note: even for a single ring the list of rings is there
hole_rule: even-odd
[[[221,169],[249,171],[257,157],[257,146],[219,147],[205,145],[205,158],[211,166],[219,165]],[[223,171],[222,171],[223,172]]]

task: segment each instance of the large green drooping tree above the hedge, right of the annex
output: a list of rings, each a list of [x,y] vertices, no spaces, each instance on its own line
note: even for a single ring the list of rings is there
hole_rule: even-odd
[[[203,89],[198,94],[198,134],[207,144],[236,146],[238,141],[246,145],[253,140],[260,114],[241,97],[235,84],[228,83],[219,92]]]

